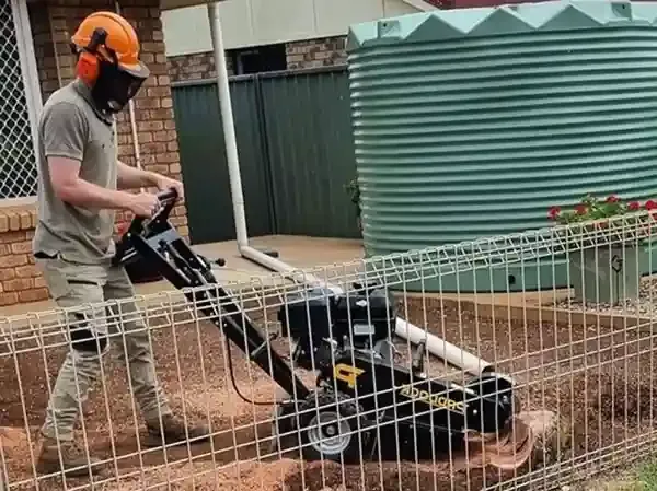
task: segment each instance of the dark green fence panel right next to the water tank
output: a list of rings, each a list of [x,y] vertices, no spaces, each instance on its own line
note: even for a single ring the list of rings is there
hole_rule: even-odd
[[[356,176],[346,69],[260,80],[277,233],[359,237],[345,190]]]

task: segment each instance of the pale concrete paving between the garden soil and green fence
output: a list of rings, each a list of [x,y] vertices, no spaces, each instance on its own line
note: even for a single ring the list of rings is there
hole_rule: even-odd
[[[252,238],[251,245],[258,249],[277,250],[280,260],[299,269],[333,266],[364,257],[361,242],[354,239],[274,235]],[[210,260],[226,259],[224,267],[215,269],[215,276],[219,282],[247,283],[253,278],[266,282],[267,277],[272,276],[272,271],[268,269],[241,257],[235,241],[201,244],[194,246],[194,249]],[[138,284],[136,290],[139,295],[175,291],[168,281]],[[10,305],[0,308],[0,316],[25,315],[49,311],[54,307],[53,301]]]

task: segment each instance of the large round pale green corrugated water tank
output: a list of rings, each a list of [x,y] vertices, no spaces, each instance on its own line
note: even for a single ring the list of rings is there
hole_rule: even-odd
[[[656,19],[657,2],[583,0],[351,26],[368,255],[545,227],[550,207],[587,192],[655,196]],[[515,291],[565,281],[562,259],[424,288]]]

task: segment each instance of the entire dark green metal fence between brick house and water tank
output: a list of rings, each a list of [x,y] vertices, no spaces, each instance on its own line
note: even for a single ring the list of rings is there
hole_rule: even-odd
[[[251,236],[358,237],[345,185],[356,175],[345,67],[235,77],[230,82]],[[215,81],[173,86],[189,233],[234,238]]]

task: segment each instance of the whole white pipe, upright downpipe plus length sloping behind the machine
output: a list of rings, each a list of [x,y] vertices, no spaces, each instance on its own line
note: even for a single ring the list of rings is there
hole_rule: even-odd
[[[240,176],[240,162],[238,156],[238,143],[235,141],[235,128],[232,116],[218,2],[208,3],[208,17],[210,21],[210,33],[212,36],[212,47],[215,50],[217,86],[219,89],[223,138],[226,139],[226,153],[228,157],[228,173],[233,202],[238,249],[246,259],[251,259],[252,261],[264,266],[269,270],[279,272],[287,277],[293,277],[296,279],[298,278],[298,274],[293,273],[298,273],[298,269],[277,258],[267,256],[266,254],[249,245],[249,235],[246,233],[246,215],[244,213],[244,196],[242,194],[242,179]],[[341,288],[328,284],[311,274],[303,273],[303,279],[307,283],[313,283],[318,287],[328,288],[337,294],[343,292]],[[429,353],[431,353],[434,356],[445,360],[447,363],[453,366],[458,366],[468,373],[480,375],[492,367],[491,363],[399,317],[396,319],[395,334],[401,338],[407,339],[414,344],[418,344],[419,342],[426,340],[426,349]]]

